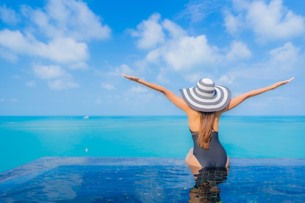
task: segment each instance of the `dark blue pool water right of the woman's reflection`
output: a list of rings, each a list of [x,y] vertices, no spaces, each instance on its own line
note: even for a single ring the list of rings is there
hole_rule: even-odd
[[[232,166],[224,202],[304,203],[304,166]]]

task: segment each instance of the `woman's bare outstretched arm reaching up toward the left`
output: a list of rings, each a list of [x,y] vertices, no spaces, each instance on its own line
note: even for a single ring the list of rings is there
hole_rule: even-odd
[[[176,105],[178,108],[182,109],[183,111],[189,111],[191,109],[187,105],[187,103],[185,103],[183,98],[177,96],[173,92],[169,91],[168,89],[166,89],[166,88],[164,88],[160,85],[156,85],[156,84],[153,84],[153,83],[150,83],[150,82],[146,82],[142,79],[139,79],[138,77],[128,76],[128,75],[125,75],[125,74],[121,74],[121,75],[126,77],[127,79],[129,79],[131,81],[135,81],[139,84],[142,84],[142,85],[145,85],[145,86],[151,88],[152,90],[163,93],[174,105]]]

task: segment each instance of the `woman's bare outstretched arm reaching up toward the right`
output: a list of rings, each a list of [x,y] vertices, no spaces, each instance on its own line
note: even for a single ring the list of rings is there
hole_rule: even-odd
[[[241,104],[246,99],[248,99],[252,96],[256,96],[258,94],[267,92],[269,90],[273,90],[275,88],[278,88],[282,85],[287,84],[288,82],[290,82],[293,79],[294,79],[294,77],[290,78],[289,80],[284,80],[284,81],[281,81],[281,82],[277,82],[277,83],[275,83],[275,84],[273,84],[269,87],[266,87],[266,88],[261,88],[261,89],[258,89],[258,90],[252,90],[250,92],[246,92],[246,93],[243,93],[241,95],[238,95],[238,96],[231,99],[228,107],[226,109],[224,109],[224,111],[229,111],[229,110],[233,109],[234,107],[238,106],[239,104]]]

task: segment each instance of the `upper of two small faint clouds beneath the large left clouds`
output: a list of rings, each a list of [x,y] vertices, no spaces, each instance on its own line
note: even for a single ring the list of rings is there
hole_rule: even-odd
[[[57,65],[43,66],[34,65],[34,73],[41,79],[52,79],[67,75],[67,73]]]

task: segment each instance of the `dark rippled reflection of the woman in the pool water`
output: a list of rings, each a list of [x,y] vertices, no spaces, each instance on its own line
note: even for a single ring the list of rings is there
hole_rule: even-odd
[[[219,203],[221,189],[219,184],[225,183],[229,167],[198,168],[190,167],[194,174],[195,185],[190,189],[189,203]]]

